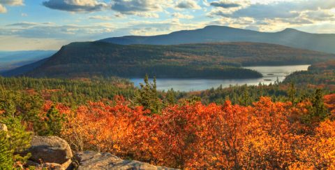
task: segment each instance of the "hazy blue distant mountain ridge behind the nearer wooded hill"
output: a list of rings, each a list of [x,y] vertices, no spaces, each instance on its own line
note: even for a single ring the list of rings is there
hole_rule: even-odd
[[[310,34],[298,31],[297,29],[285,29],[283,31],[270,33],[224,26],[207,26],[203,29],[175,31],[171,34],[158,36],[122,36],[105,38],[100,41],[122,45],[177,45],[182,43],[256,42],[335,53],[335,34]]]

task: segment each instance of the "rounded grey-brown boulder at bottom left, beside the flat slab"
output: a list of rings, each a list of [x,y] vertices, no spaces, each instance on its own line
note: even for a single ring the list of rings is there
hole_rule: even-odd
[[[30,160],[43,163],[64,164],[73,157],[68,143],[57,136],[33,136],[27,153]]]

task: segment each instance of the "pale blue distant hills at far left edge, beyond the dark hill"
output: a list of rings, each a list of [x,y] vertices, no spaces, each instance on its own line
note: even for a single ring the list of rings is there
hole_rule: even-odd
[[[53,50],[31,50],[31,51],[0,51],[0,72],[16,67],[31,64],[40,59],[52,56]]]

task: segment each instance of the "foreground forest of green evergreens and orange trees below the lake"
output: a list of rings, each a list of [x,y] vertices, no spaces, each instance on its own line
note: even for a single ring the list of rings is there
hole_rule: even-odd
[[[334,169],[332,82],[334,62],[283,83],[200,92],[160,92],[148,76],[139,88],[115,77],[0,77],[0,167],[25,166],[29,153],[18,153],[39,135],[177,169]]]

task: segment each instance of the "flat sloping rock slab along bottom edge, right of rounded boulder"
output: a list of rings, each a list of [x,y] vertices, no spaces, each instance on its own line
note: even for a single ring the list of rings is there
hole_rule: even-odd
[[[87,151],[84,153],[77,153],[75,159],[79,162],[78,170],[89,170],[89,169],[166,169],[166,167],[156,167],[151,164],[144,162],[121,160],[119,157],[114,156],[110,153],[96,153]]]

